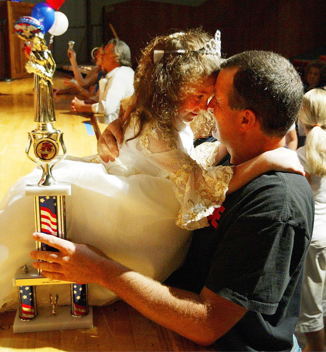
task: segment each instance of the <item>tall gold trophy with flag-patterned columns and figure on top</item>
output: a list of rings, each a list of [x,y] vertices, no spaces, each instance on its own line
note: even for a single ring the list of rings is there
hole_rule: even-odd
[[[66,155],[63,133],[54,128],[52,77],[56,65],[44,40],[44,27],[38,20],[29,16],[21,17],[15,22],[14,30],[19,38],[27,41],[25,46],[31,48],[26,69],[34,73],[34,121],[37,122],[37,128],[29,132],[26,154],[43,171],[38,182],[26,186],[25,194],[34,198],[35,230],[65,239],[65,196],[71,194],[71,186],[69,183],[56,182],[52,176],[53,166]],[[60,146],[63,154],[58,156]],[[33,156],[30,155],[31,149]],[[56,251],[51,246],[36,243],[38,250]],[[50,294],[48,308],[38,309],[37,285],[53,284],[70,284],[70,307],[58,306],[60,297]],[[47,279],[39,270],[24,265],[16,272],[14,285],[18,287],[19,297],[14,332],[93,327],[86,284]]]

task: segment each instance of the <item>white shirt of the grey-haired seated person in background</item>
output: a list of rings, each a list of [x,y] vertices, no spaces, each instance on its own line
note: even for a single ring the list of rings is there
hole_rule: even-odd
[[[95,114],[104,114],[104,123],[118,118],[121,99],[133,95],[134,70],[128,66],[119,66],[108,72],[99,81],[99,103],[92,104]]]

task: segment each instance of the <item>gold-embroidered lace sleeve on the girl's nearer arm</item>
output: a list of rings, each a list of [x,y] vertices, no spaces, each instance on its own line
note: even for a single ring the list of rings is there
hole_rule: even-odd
[[[212,144],[209,155],[218,147],[218,144]],[[143,130],[138,141],[138,147],[147,159],[166,170],[174,183],[174,192],[181,204],[176,224],[194,230],[208,226],[206,217],[223,203],[232,167],[210,166],[205,162],[197,164],[178,145],[178,135],[165,137],[155,128]]]

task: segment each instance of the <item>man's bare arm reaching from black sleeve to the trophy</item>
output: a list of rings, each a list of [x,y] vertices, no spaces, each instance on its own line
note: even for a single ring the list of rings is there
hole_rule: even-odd
[[[247,312],[205,287],[198,295],[164,286],[111,260],[94,247],[44,233],[35,233],[33,237],[59,249],[31,252],[32,258],[45,260],[34,262],[45,277],[100,284],[149,319],[199,344],[212,344]]]

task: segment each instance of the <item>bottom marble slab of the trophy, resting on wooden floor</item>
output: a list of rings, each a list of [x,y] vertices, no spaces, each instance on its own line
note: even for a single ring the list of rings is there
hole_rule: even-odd
[[[34,331],[54,331],[70,329],[88,329],[93,327],[93,307],[89,306],[89,313],[81,318],[75,318],[70,312],[70,306],[56,306],[56,315],[52,315],[52,307],[40,307],[34,319],[23,321],[19,317],[17,310],[13,331],[34,332]]]

